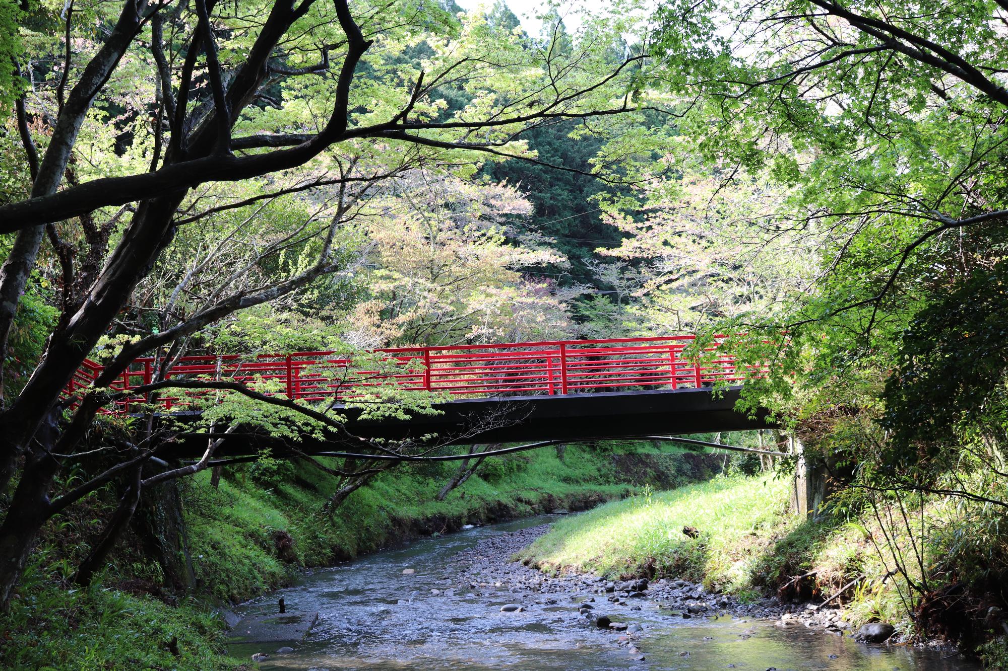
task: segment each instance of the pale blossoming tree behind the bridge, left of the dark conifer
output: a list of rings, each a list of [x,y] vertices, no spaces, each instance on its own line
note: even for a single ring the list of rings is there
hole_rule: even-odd
[[[362,235],[375,268],[362,280],[367,296],[348,340],[373,348],[568,336],[563,292],[519,273],[565,262],[520,231],[531,212],[513,186],[421,172],[373,198]]]

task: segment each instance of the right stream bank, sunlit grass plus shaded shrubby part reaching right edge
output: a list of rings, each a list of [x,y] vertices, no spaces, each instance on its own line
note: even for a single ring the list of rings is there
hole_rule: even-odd
[[[888,622],[913,635],[923,616],[927,636],[1006,668],[1003,632],[984,622],[1003,584],[999,511],[934,497],[860,508],[840,501],[843,515],[802,520],[787,513],[787,499],[788,483],[767,476],[637,495],[557,522],[519,558],[548,571],[683,577],[743,600],[839,593],[854,625]],[[699,537],[684,535],[686,526]]]

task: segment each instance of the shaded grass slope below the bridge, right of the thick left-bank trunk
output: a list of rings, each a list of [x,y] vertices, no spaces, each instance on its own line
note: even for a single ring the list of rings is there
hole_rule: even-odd
[[[696,476],[677,448],[630,445],[599,450],[572,445],[563,460],[541,449],[487,462],[445,501],[435,495],[454,464],[404,467],[355,492],[334,514],[323,504],[338,487],[323,471],[298,465],[290,482],[262,487],[247,473],[225,475],[218,490],[210,475],[186,486],[191,552],[201,584],[219,601],[241,600],[284,583],[299,566],[331,564],[387,546],[421,527],[450,531],[502,514],[532,515],[587,499],[619,499],[651,477],[685,483]],[[689,455],[696,462],[696,455]],[[619,473],[617,460],[633,473]],[[645,474],[645,475],[641,475]],[[707,474],[710,475],[710,474]],[[273,534],[294,541],[293,561],[276,557]]]

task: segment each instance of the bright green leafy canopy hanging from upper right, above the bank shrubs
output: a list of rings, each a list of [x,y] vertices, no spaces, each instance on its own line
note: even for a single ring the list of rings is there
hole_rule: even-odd
[[[815,357],[813,386],[850,373],[866,398],[881,391],[879,368],[902,356],[914,315],[999,262],[1008,217],[1008,10],[965,0],[915,8],[808,0],[659,11],[656,52],[670,66],[691,63],[669,80],[695,104],[683,132],[722,166],[726,187],[748,174],[786,192],[754,230],[800,238],[818,257],[786,310],[740,315],[740,325],[787,328]],[[719,31],[726,19],[732,30]]]

